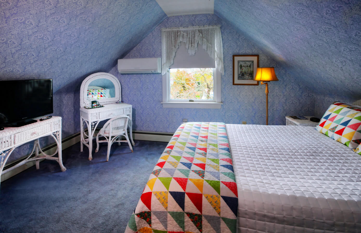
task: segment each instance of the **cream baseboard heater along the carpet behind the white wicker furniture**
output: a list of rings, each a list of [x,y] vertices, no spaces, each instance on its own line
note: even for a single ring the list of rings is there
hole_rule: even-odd
[[[95,135],[97,134],[99,130],[97,129],[95,131]],[[134,140],[145,140],[145,141],[154,141],[154,142],[169,142],[170,139],[172,138],[173,134],[172,133],[158,133],[158,132],[149,132],[149,131],[133,131],[133,139]],[[62,140],[61,146],[62,149],[66,149],[76,143],[80,142],[80,133],[76,133],[73,134],[69,137],[66,137]],[[48,149],[47,149],[48,148]],[[86,150],[86,147],[84,148],[84,150]],[[53,154],[56,151],[56,143],[53,143],[51,145],[49,145],[48,147],[45,148],[45,150],[43,150],[44,153],[47,154]],[[79,148],[80,151],[80,148]],[[87,152],[88,153],[88,152]],[[35,154],[35,153],[34,153]],[[33,154],[33,155],[34,155]],[[16,164],[18,161],[21,161],[23,159],[25,159],[27,156],[19,158],[16,161],[13,161],[12,163],[10,163],[10,165],[12,164]],[[43,160],[39,160],[40,162]],[[29,167],[32,167],[35,165],[35,161],[30,161],[27,162],[19,167],[14,168],[13,170],[10,170],[4,174],[1,174],[1,181],[7,180],[10,177],[25,171],[26,169],[28,169]],[[5,167],[8,167],[8,165],[6,165]],[[4,169],[5,170],[5,169]]]

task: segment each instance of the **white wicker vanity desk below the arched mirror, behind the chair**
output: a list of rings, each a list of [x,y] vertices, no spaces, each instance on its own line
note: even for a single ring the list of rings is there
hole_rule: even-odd
[[[134,145],[133,136],[132,136],[132,106],[131,104],[126,103],[112,103],[104,104],[102,108],[92,108],[86,109],[84,107],[80,108],[80,131],[81,131],[81,143],[80,151],[83,151],[83,145],[86,145],[89,148],[89,160],[92,160],[92,140],[93,135],[96,130],[97,125],[100,121],[109,120],[112,117],[119,115],[127,115],[130,117],[129,121],[129,134],[130,142]],[[85,123],[85,125],[84,125]],[[88,129],[88,134],[85,133],[85,129]],[[89,132],[91,132],[89,134]],[[85,138],[87,136],[88,138]]]

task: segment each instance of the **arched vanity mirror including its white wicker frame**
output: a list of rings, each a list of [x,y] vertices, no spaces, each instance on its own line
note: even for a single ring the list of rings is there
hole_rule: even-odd
[[[80,88],[80,107],[90,106],[96,100],[99,104],[121,101],[121,85],[110,73],[93,73],[84,79]]]

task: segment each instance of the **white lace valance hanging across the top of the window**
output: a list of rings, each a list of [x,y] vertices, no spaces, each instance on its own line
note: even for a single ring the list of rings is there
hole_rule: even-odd
[[[198,50],[198,43],[201,44],[209,56],[216,61],[218,70],[224,74],[221,28],[195,26],[162,29],[162,75],[173,64],[175,52],[181,42],[186,43],[189,55],[194,55]]]

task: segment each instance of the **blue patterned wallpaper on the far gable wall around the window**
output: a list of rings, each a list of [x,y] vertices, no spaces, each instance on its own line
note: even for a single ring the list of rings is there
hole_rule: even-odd
[[[269,84],[269,124],[284,125],[286,115],[313,115],[314,96],[304,83],[295,79],[253,42],[239,34],[216,15],[184,15],[166,18],[125,58],[161,57],[161,28],[221,25],[225,75],[221,78],[221,109],[163,108],[161,74],[121,75],[110,71],[122,84],[122,100],[133,106],[134,130],[174,132],[188,121],[222,121],[230,124],[265,124],[265,85],[232,85],[232,55],[258,54],[260,67],[274,66],[280,81]]]

